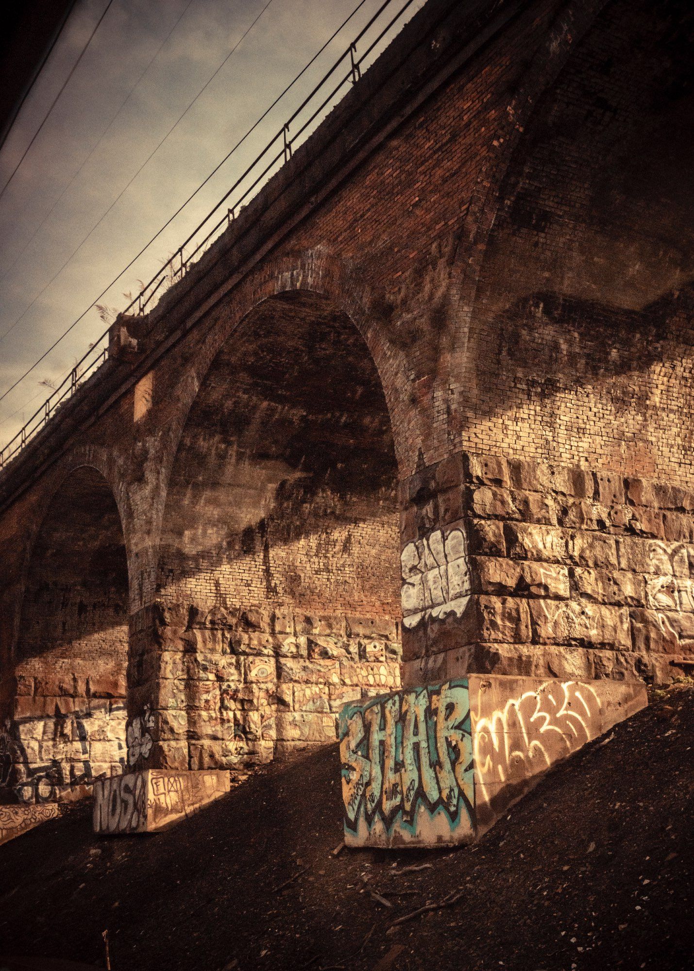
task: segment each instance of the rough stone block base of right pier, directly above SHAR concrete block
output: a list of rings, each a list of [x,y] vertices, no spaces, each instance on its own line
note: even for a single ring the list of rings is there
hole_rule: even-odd
[[[402,498],[405,684],[468,671],[659,683],[694,660],[694,492],[461,453]]]

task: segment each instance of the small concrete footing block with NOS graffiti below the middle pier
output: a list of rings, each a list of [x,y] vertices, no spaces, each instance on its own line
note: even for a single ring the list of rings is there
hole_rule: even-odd
[[[226,771],[143,769],[94,784],[94,832],[151,833],[183,820],[229,791]]]

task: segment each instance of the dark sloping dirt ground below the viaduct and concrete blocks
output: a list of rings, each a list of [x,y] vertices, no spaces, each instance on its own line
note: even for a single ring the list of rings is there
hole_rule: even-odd
[[[108,930],[112,971],[691,971],[692,746],[694,687],[655,692],[455,852],[333,855],[336,747],[157,835],[81,805],[0,848],[0,954],[103,968]]]

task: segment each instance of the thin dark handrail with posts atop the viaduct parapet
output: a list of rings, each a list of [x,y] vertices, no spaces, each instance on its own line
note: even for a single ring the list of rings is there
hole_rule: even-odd
[[[292,158],[292,154],[295,151],[295,146],[297,145],[298,140],[305,135],[307,129],[315,121],[315,119],[328,108],[338,92],[346,84],[351,86],[359,83],[363,73],[364,60],[383,40],[386,34],[399,22],[399,20],[401,20],[405,12],[414,3],[414,0],[405,0],[405,2],[399,6],[395,16],[391,18],[385,27],[382,27],[379,30],[379,33],[375,39],[369,38],[368,47],[366,47],[361,55],[358,55],[358,44],[364,40],[365,35],[369,33],[371,28],[377,23],[377,21],[380,20],[384,12],[388,8],[393,7],[396,3],[397,0],[384,0],[384,2],[368,20],[349,47],[344,50],[342,54],[340,54],[337,60],[330,67],[330,70],[323,76],[321,81],[312,88],[310,93],[303,99],[298,108],[295,109],[295,112],[292,114],[289,120],[287,120],[279,129],[277,134],[269,140],[264,149],[260,151],[253,162],[251,162],[248,168],[245,169],[243,174],[236,179],[229,189],[227,189],[217,205],[210,210],[207,216],[192,230],[191,234],[186,240],[184,240],[181,246],[179,246],[173,255],[166,260],[159,270],[157,270],[155,276],[142,287],[142,289],[130,301],[127,307],[121,311],[122,314],[133,312],[133,309],[136,308],[136,311],[134,312],[136,312],[138,315],[144,315],[145,308],[151,303],[153,297],[159,291],[162,285],[164,285],[167,281],[173,282],[177,278],[183,279],[184,275],[188,271],[189,266],[191,265],[191,260],[193,257],[196,256],[200,251],[204,251],[208,244],[210,244],[216,234],[219,233],[223,227],[227,227],[231,224],[239,209],[249,201],[251,193],[254,193],[254,190],[257,190],[263,181],[269,177],[272,169],[275,166],[277,166],[277,168],[281,168],[284,163],[288,162]],[[325,96],[322,93],[323,89],[326,87],[335,72],[339,69],[340,65],[345,61],[348,61],[349,64],[347,73],[340,75],[337,84],[334,85],[331,88],[330,93]],[[313,108],[314,100],[320,100],[320,104],[317,108],[312,110],[310,116],[303,120],[300,126],[295,130],[294,134],[292,134],[292,125],[295,123],[298,117],[301,116],[305,109],[307,109],[309,106]],[[272,155],[271,160],[266,162],[266,156],[276,145],[278,145],[278,143],[280,146],[279,151],[276,151]],[[280,163],[279,165],[278,162]],[[260,172],[258,172],[259,169]],[[237,189],[241,189],[244,181],[252,176],[255,176],[255,178],[251,184],[247,185],[243,192],[237,198],[235,198],[231,204],[229,204],[229,197]],[[210,220],[223,206],[226,207],[224,216],[215,222],[210,229]],[[189,252],[188,256],[186,256],[186,248],[189,247],[197,238],[201,230],[205,230],[203,239],[200,240]],[[178,266],[174,266],[174,262],[176,261],[178,261]],[[78,387],[83,385],[94,373],[94,371],[101,367],[101,365],[108,359],[108,338],[110,329],[111,328],[109,327],[99,338],[97,338],[94,344],[89,347],[87,353],[85,353],[80,360],[75,363],[67,377],[65,377],[60,385],[58,385],[54,391],[52,391],[52,394],[49,395],[49,397],[44,401],[41,407],[36,410],[31,418],[22,425],[14,438],[12,438],[7,445],[0,450],[0,468],[3,468],[3,466],[6,465],[17,454],[17,452],[20,452],[21,449],[24,448],[27,442],[30,441],[30,439],[33,438],[33,436],[49,420],[52,419],[57,407],[66,398],[70,398],[77,391]],[[105,347],[104,342],[106,342]]]

